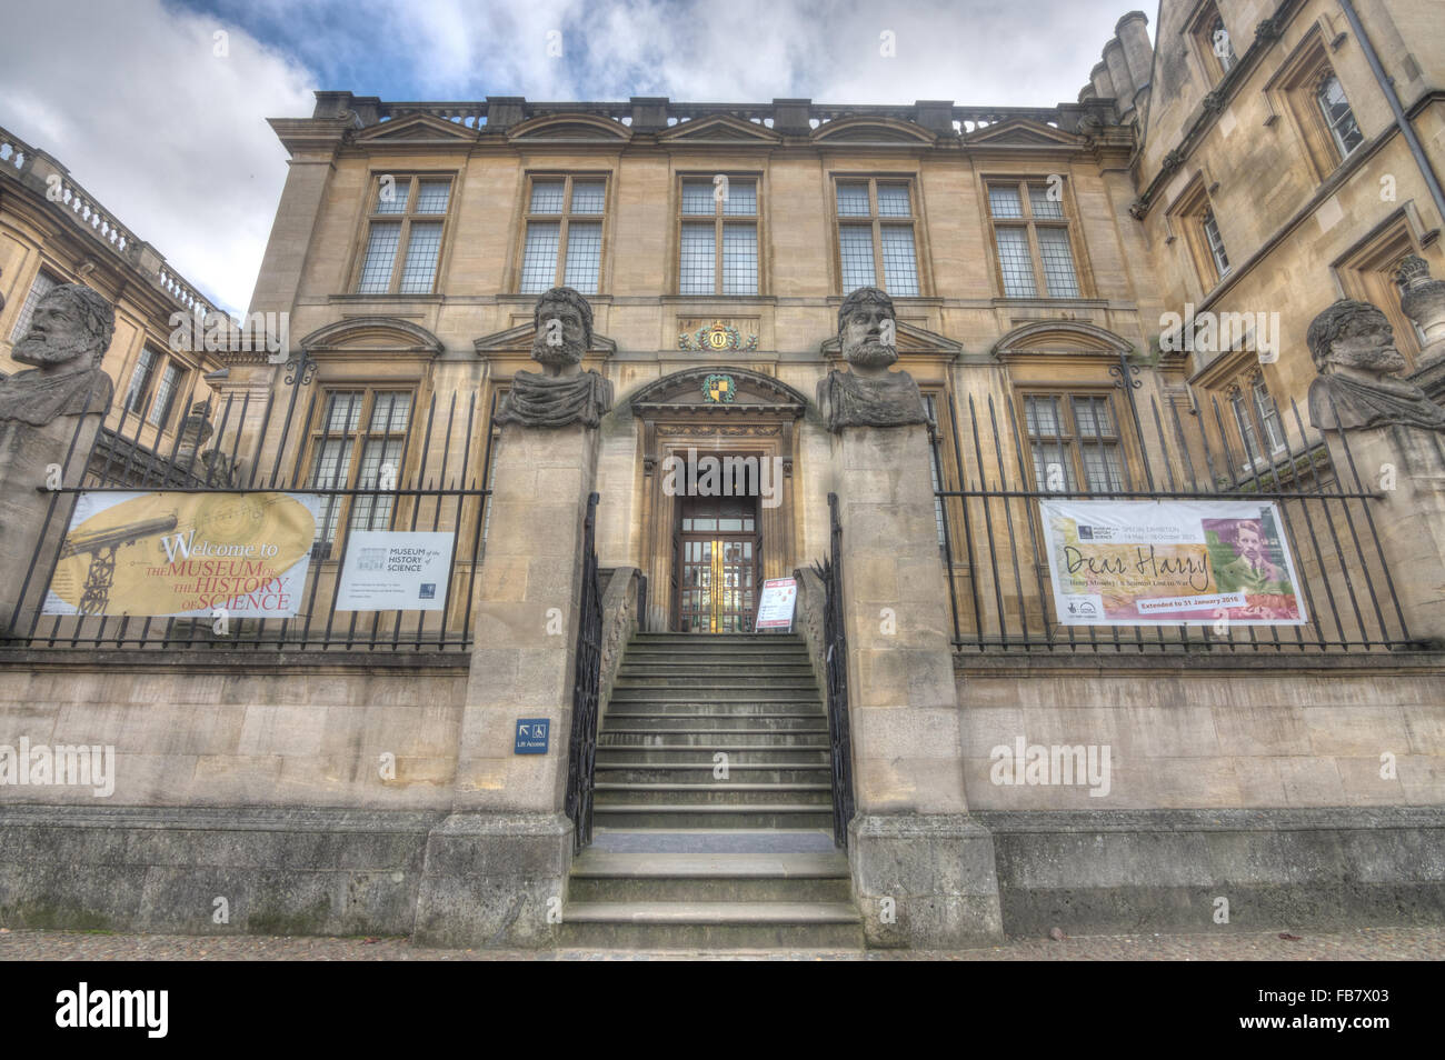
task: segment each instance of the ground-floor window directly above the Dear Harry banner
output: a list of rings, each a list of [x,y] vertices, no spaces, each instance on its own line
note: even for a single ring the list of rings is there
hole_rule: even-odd
[[[1107,394],[1025,394],[1023,420],[1038,490],[1118,492],[1127,488],[1123,443]]]

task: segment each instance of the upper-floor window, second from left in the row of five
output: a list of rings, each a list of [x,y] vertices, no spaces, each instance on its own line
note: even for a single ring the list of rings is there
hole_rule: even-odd
[[[603,270],[605,209],[605,178],[532,178],[517,290],[539,295],[566,286],[595,295]]]

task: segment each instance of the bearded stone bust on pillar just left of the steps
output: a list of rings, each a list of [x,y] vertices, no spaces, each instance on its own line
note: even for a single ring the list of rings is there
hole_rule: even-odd
[[[526,427],[595,427],[613,406],[611,383],[582,371],[592,345],[592,306],[571,287],[552,287],[532,313],[532,360],[543,371],[519,371],[497,409],[497,423]]]

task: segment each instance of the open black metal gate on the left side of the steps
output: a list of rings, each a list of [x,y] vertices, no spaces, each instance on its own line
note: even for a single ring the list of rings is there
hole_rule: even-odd
[[[592,789],[597,770],[597,702],[601,695],[603,591],[597,578],[597,494],[587,498],[582,524],[582,601],[577,618],[572,734],[566,757],[566,816],[572,849],[592,842]]]

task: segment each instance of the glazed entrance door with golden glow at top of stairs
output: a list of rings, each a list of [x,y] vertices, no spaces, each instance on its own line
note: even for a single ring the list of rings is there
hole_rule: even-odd
[[[756,497],[679,497],[675,628],[751,633],[760,546]]]

